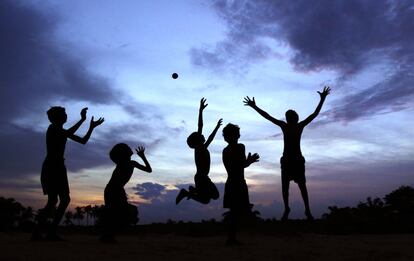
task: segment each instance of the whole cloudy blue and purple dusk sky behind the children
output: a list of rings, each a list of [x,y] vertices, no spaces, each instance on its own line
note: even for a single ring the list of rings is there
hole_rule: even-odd
[[[194,155],[186,144],[219,118],[241,128],[240,142],[260,162],[247,168],[250,200],[262,217],[283,212],[281,130],[243,106],[284,120],[304,119],[325,85],[331,94],[304,130],[302,152],[315,217],[414,186],[413,1],[0,1],[0,196],[40,208],[46,111],[66,108],[69,128],[88,107],[105,117],[86,145],[68,140],[71,207],[103,204],[114,169],[108,153],[144,145],[153,172],[126,185],[142,223],[220,219],[227,174],[219,130],[210,145],[210,178],[220,199],[184,200]],[[171,78],[172,73],[179,78]],[[133,159],[139,160],[135,155]],[[304,218],[291,183],[292,218]]]

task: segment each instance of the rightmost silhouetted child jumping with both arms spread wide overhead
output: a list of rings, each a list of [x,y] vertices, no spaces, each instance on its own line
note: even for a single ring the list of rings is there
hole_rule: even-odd
[[[255,109],[265,119],[276,124],[283,131],[284,148],[283,156],[280,158],[280,165],[282,169],[282,194],[285,211],[283,213],[282,220],[287,220],[290,213],[289,183],[291,180],[296,182],[299,186],[303,202],[305,204],[305,215],[307,219],[313,220],[313,216],[309,207],[308,191],[306,188],[305,158],[302,156],[300,149],[300,139],[305,126],[308,125],[313,119],[315,119],[316,116],[318,116],[325,98],[330,91],[331,89],[329,87],[325,87],[322,92],[318,92],[321,97],[318,106],[311,115],[309,115],[305,120],[301,122],[299,122],[299,116],[294,110],[286,111],[286,122],[284,122],[273,118],[267,112],[257,107],[254,97],[253,100],[251,100],[249,97],[246,97],[244,99],[245,105]]]

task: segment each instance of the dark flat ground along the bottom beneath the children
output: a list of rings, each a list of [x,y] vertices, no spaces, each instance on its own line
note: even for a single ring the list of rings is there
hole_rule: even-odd
[[[225,234],[133,232],[116,244],[94,233],[63,231],[64,242],[29,242],[27,233],[0,233],[0,260],[414,260],[414,234],[333,235],[312,232],[240,233],[242,246],[226,247]]]

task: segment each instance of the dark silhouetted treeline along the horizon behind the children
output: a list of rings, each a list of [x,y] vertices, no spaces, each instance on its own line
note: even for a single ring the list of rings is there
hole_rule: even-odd
[[[41,211],[41,210],[39,210]],[[39,211],[24,207],[13,198],[0,197],[0,230],[33,228]],[[67,211],[63,219],[65,226],[99,226],[104,216],[103,205],[87,205]],[[226,213],[223,214],[223,219]],[[260,212],[253,211],[250,220],[256,223],[275,223],[275,219],[262,219]],[[139,220],[139,219],[138,219]],[[328,207],[318,224],[334,226],[350,231],[384,231],[384,228],[414,231],[414,188],[401,186],[384,198],[370,198],[355,207]],[[183,224],[183,221],[168,220],[166,224]],[[190,222],[191,223],[191,222]],[[202,223],[221,223],[203,221]]]

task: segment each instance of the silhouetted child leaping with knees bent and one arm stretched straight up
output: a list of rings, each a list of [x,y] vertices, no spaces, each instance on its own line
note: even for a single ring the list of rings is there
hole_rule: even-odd
[[[205,140],[203,132],[203,110],[208,104],[205,104],[204,98],[200,101],[200,109],[198,114],[198,131],[193,132],[187,138],[187,144],[190,148],[194,149],[194,158],[197,167],[197,172],[194,176],[195,188],[190,186],[188,191],[181,189],[177,195],[175,203],[178,204],[180,201],[187,197],[187,199],[193,199],[202,204],[208,204],[211,199],[218,199],[219,192],[216,185],[208,177],[210,172],[210,152],[208,146],[216,136],[217,130],[222,124],[222,119],[217,122],[213,132]]]

